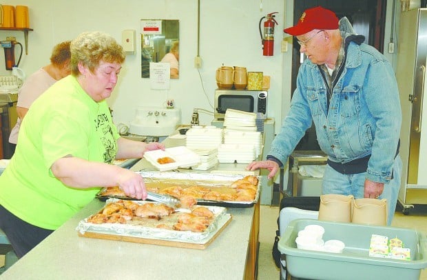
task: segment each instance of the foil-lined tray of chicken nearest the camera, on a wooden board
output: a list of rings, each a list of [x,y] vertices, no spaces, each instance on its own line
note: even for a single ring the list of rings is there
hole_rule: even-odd
[[[108,199],[105,207],[79,222],[80,234],[92,232],[142,239],[198,242],[231,219],[218,206],[171,208],[163,203]]]

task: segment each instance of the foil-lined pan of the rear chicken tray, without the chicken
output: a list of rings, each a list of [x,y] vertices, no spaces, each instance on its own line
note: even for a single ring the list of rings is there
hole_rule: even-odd
[[[196,172],[158,172],[158,171],[138,171],[145,180],[187,180],[191,185],[207,186],[209,188],[215,188],[215,186],[224,186],[227,183],[233,183],[239,179],[243,179],[246,175],[238,174],[215,174],[215,173],[196,173]],[[206,200],[196,199],[198,205],[202,206],[220,206],[229,208],[247,208],[252,207],[258,202],[260,197],[260,183],[261,177],[258,176],[258,188],[256,191],[255,199],[253,201],[220,201],[220,200]],[[103,196],[103,190],[101,189],[96,198],[101,201],[106,201],[109,198],[135,200],[131,197],[121,196]]]

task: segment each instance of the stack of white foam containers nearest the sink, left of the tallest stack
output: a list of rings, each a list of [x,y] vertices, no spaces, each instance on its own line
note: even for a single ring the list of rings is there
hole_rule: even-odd
[[[185,146],[191,150],[216,149],[222,143],[222,128],[193,126],[186,133]]]

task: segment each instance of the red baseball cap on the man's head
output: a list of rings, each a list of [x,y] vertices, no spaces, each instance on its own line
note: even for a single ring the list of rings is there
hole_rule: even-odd
[[[292,36],[299,36],[313,29],[338,29],[338,18],[335,12],[320,6],[309,8],[302,13],[295,26],[285,28],[283,31]]]

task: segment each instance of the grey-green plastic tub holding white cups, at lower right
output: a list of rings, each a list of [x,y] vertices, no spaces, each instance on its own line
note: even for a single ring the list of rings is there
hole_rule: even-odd
[[[337,239],[345,243],[341,254],[300,250],[295,239],[298,231],[309,224],[325,229],[324,240]],[[369,257],[372,234],[397,237],[410,249],[410,261]],[[408,228],[366,226],[357,223],[337,223],[296,219],[291,221],[280,238],[278,248],[285,254],[287,270],[293,277],[306,279],[419,279],[427,267],[426,236]]]

